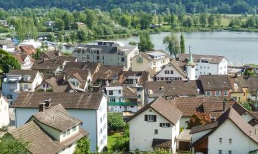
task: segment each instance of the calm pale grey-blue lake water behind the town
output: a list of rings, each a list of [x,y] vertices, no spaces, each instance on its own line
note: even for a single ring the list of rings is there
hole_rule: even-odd
[[[258,64],[258,33],[234,31],[184,32],[186,53],[189,46],[194,54],[224,55],[230,64]],[[155,49],[164,49],[163,38],[169,33],[152,34]],[[178,33],[180,36],[180,33]],[[131,40],[139,42],[138,37],[113,39],[128,44]]]

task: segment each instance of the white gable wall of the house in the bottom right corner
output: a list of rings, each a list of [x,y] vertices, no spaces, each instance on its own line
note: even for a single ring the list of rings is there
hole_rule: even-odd
[[[222,138],[222,143],[219,138]],[[231,144],[228,142],[229,138],[232,139]],[[208,154],[218,153],[219,150],[223,154],[228,154],[228,151],[245,154],[255,149],[258,149],[258,144],[248,138],[230,119],[208,137]]]

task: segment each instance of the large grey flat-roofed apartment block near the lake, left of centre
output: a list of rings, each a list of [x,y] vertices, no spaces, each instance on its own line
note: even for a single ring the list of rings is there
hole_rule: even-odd
[[[77,44],[72,52],[80,62],[99,62],[103,65],[131,67],[131,58],[139,53],[137,46],[122,42],[97,41],[95,44]]]

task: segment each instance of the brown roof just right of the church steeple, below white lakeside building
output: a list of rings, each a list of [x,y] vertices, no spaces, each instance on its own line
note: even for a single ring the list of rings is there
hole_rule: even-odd
[[[200,75],[198,80],[201,81],[204,91],[232,89],[228,75]]]

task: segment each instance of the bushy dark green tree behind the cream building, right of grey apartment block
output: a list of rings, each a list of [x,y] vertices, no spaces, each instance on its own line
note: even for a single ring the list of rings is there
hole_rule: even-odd
[[[154,44],[152,44],[149,34],[144,33],[140,35],[140,42],[138,42],[138,48],[142,52],[152,51],[154,49]]]

